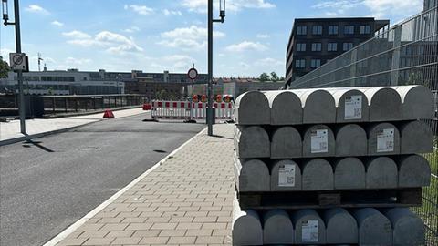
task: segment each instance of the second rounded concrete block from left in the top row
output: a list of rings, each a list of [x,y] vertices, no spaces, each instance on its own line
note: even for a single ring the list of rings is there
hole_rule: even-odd
[[[271,108],[271,125],[287,126],[303,123],[299,97],[290,90],[264,91]]]

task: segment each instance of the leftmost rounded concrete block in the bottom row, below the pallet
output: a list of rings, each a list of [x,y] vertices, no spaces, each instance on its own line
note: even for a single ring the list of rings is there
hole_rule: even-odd
[[[233,245],[263,245],[263,230],[255,210],[240,210],[235,200],[233,206]]]

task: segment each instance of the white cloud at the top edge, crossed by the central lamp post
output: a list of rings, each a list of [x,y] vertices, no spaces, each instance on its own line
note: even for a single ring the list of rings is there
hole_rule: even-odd
[[[184,7],[189,11],[206,13],[207,1],[205,0],[183,0]],[[214,7],[218,8],[218,3],[214,2]],[[228,0],[226,2],[226,9],[237,12],[243,8],[274,8],[276,5],[267,2],[267,0]]]

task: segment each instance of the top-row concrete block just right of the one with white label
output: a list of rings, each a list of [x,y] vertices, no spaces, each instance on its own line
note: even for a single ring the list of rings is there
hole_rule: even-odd
[[[401,120],[401,97],[391,87],[360,89],[370,104],[370,121]]]

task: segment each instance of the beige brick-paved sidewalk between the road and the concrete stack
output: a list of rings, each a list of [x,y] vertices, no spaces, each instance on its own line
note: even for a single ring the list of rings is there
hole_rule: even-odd
[[[203,130],[57,245],[230,245],[233,125]]]

